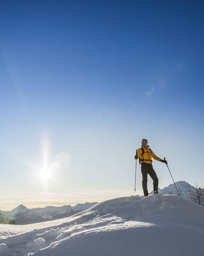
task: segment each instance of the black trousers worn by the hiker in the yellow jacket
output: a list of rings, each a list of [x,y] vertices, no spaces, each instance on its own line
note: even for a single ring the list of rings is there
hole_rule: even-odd
[[[147,190],[147,174],[149,174],[153,180],[154,191],[158,190],[157,174],[153,169],[152,165],[147,163],[141,164],[141,172],[142,172],[142,188],[143,188],[144,196],[148,196],[149,194]]]

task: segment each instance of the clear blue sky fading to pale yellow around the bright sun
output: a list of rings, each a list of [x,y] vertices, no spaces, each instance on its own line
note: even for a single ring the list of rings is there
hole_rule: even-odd
[[[0,1],[0,210],[133,195],[142,138],[203,186],[203,24],[203,1]]]

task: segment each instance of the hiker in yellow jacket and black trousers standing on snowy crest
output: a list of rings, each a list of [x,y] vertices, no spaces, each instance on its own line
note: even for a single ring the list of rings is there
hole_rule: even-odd
[[[142,139],[142,146],[137,150],[137,154],[134,156],[135,160],[139,158],[139,163],[141,164],[142,188],[144,196],[149,195],[147,190],[147,174],[149,174],[153,180],[154,194],[158,194],[158,178],[155,170],[153,169],[151,158],[153,157],[157,161],[167,164],[166,160],[163,160],[154,154],[147,143],[148,141],[146,139]]]

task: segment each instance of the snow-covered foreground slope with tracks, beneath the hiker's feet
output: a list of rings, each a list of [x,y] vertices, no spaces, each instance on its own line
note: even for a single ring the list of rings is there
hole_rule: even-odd
[[[153,194],[111,199],[60,220],[0,225],[0,255],[201,256],[203,237],[203,206]]]

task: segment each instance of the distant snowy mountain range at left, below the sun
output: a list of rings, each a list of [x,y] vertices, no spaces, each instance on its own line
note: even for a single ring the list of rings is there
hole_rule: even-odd
[[[44,208],[28,209],[24,205],[20,204],[15,207],[12,211],[0,211],[6,218],[14,220],[18,225],[31,224],[37,222],[43,222],[48,220],[56,220],[61,218],[70,217],[71,215],[87,210],[91,206],[97,204],[84,203],[77,204],[75,206],[64,205],[64,206],[47,206]]]

